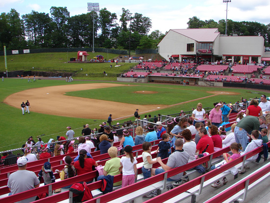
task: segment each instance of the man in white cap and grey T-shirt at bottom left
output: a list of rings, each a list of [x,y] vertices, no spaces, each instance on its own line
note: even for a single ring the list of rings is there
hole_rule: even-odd
[[[7,187],[11,194],[15,195],[27,190],[39,187],[39,180],[34,172],[27,171],[27,158],[20,157],[17,160],[18,171],[9,175]],[[36,196],[20,201],[19,203],[30,203],[35,201]]]

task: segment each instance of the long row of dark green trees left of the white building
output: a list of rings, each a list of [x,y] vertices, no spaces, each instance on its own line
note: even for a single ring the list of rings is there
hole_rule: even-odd
[[[94,31],[93,31],[94,20]],[[33,11],[22,15],[11,9],[0,15],[0,46],[8,50],[37,48],[95,47],[108,49],[156,48],[164,34],[152,28],[149,17],[122,8],[117,15],[103,8],[70,16],[67,7],[51,7],[49,13]]]

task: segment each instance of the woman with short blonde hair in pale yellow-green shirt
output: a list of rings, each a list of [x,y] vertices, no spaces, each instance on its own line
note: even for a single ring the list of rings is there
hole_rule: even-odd
[[[111,146],[108,149],[108,154],[110,156],[110,160],[105,163],[103,168],[104,175],[118,175],[120,174],[119,168],[120,166],[120,158],[117,157],[117,148],[115,146]],[[104,175],[98,176],[98,180],[100,180]],[[113,186],[121,185],[122,181],[113,183]]]

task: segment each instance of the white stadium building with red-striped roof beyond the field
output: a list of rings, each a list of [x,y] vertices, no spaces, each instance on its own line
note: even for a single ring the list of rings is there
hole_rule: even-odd
[[[221,59],[241,63],[261,62],[264,57],[263,36],[226,36],[217,28],[170,29],[158,44],[166,58],[213,62]]]

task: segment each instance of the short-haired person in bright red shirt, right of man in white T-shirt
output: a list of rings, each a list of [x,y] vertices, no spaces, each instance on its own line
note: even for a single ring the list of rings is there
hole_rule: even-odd
[[[213,143],[213,140],[208,136],[207,130],[205,128],[201,128],[199,130],[199,136],[201,139],[199,140],[198,144],[196,145],[196,152],[199,152],[199,154],[201,154],[202,151],[208,145],[206,152],[208,152],[209,154],[213,153],[214,152],[214,143]]]

